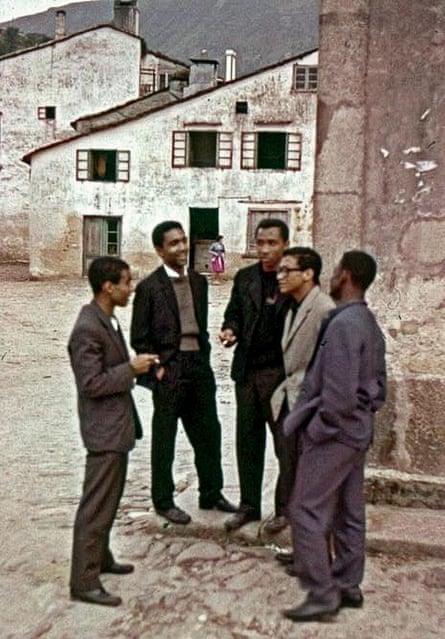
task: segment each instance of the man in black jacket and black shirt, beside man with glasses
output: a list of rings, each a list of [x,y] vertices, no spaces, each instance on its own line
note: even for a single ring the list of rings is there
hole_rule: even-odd
[[[264,219],[255,238],[259,261],[236,274],[220,332],[225,346],[237,344],[232,379],[241,499],[239,512],[225,522],[228,531],[261,519],[266,423],[274,437],[277,457],[279,454],[279,433],[272,419],[270,399],[284,379],[281,335],[286,304],[278,291],[277,269],[288,244],[289,229],[282,220]],[[277,491],[277,517],[286,514],[286,506]]]

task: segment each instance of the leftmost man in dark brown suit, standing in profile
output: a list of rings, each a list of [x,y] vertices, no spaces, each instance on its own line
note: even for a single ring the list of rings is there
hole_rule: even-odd
[[[128,264],[114,257],[91,263],[88,279],[94,299],[80,311],[68,351],[76,379],[80,429],[87,458],[83,493],[74,524],[70,588],[72,599],[117,606],[120,597],[103,588],[100,573],[127,574],[110,550],[110,531],[125,484],[128,452],[142,428],[131,396],[137,375],[156,355],[129,358],[115,306],[131,293]]]

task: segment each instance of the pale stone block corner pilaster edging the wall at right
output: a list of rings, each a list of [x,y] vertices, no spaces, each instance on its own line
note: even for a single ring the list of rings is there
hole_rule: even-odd
[[[367,0],[321,0],[314,244],[328,274],[362,244]]]

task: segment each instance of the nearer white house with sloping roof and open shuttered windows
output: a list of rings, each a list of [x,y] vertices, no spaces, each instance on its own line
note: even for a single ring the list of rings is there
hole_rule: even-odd
[[[254,256],[265,216],[312,242],[317,51],[202,89],[216,61],[195,60],[182,99],[155,94],[75,123],[78,133],[25,156],[31,165],[30,270],[80,275],[118,254],[140,274],[157,262],[151,230],[181,221],[191,266],[224,236],[235,270]],[[200,87],[193,93],[193,78]]]

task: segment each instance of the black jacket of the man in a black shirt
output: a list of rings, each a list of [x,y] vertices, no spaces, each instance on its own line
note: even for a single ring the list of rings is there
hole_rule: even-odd
[[[246,376],[248,353],[261,312],[261,295],[261,264],[258,262],[238,271],[222,325],[223,330],[232,329],[238,339],[232,361],[232,379],[235,382],[242,382]],[[288,305],[289,299],[279,295],[275,308],[280,334]]]

